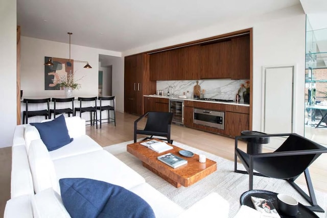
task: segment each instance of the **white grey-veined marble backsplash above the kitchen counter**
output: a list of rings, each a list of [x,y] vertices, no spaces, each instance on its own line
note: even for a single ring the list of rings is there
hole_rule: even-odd
[[[247,80],[198,80],[201,91],[204,89],[203,98],[208,99],[225,99],[235,101],[241,84],[245,84]],[[174,96],[182,95],[183,92],[189,91],[190,98],[193,98],[193,87],[196,80],[175,80],[175,81],[157,81],[157,90],[164,90],[167,95],[169,86],[173,87]],[[169,89],[171,94],[171,88]],[[243,101],[243,99],[241,99]]]

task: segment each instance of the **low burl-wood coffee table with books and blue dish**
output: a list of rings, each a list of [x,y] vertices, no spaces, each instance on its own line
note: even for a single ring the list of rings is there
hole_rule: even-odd
[[[173,144],[169,145],[174,149],[162,153],[157,153],[145,146],[142,146],[142,144],[139,142],[136,142],[127,145],[127,152],[141,160],[144,167],[150,169],[150,171],[157,174],[162,179],[165,179],[176,188],[179,188],[181,185],[189,187],[190,185],[193,185],[197,181],[203,179],[209,174],[214,173],[217,170],[217,163],[215,161],[206,159],[205,163],[200,163],[199,155],[194,154],[193,157],[183,157],[178,153],[183,149],[178,148]],[[157,159],[158,156],[167,153],[177,155],[187,160],[188,163],[174,169],[173,167],[170,167],[166,163],[162,163]]]

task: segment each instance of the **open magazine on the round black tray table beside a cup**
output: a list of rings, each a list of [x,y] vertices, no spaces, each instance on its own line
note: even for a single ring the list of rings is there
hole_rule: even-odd
[[[261,217],[281,218],[271,201],[253,196],[251,196],[251,201],[255,209],[261,212]]]

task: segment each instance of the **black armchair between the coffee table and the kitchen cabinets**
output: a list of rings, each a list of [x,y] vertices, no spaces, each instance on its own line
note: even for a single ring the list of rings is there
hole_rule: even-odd
[[[137,129],[137,123],[143,119],[144,117],[148,116],[147,123],[143,130]],[[136,135],[151,135],[150,137],[146,137],[146,139],[153,138],[153,136],[162,136],[167,137],[168,143],[173,143],[173,140],[170,139],[170,130],[173,120],[173,113],[170,112],[147,112],[143,116],[139,117],[134,122],[134,142],[136,142]]]

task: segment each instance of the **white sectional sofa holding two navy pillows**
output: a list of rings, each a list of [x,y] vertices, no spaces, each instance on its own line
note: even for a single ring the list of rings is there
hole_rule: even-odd
[[[218,193],[211,193],[187,210],[182,209],[87,136],[85,120],[75,116],[65,117],[65,122],[74,140],[51,152],[35,127],[16,127],[11,199],[6,204],[5,218],[70,217],[60,197],[61,178],[89,178],[120,185],[143,198],[156,217],[228,217],[228,202]]]

